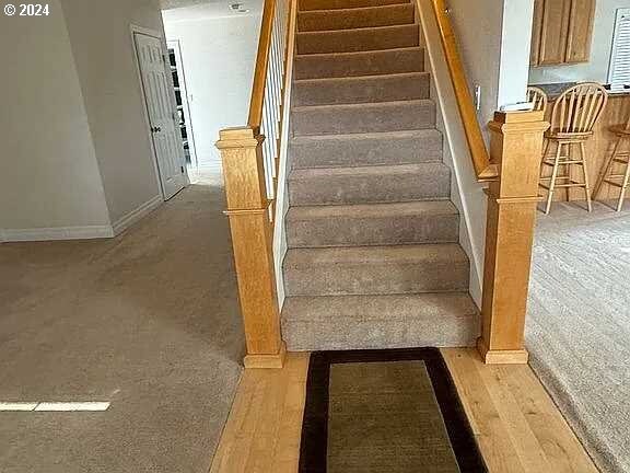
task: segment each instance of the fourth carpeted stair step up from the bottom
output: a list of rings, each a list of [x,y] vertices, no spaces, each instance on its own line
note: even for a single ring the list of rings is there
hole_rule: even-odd
[[[303,169],[292,171],[288,181],[292,206],[438,200],[451,195],[451,170],[441,162]]]

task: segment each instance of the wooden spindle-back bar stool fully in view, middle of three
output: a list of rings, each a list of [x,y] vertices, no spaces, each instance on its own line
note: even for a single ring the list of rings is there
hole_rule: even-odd
[[[602,116],[607,102],[606,89],[595,82],[574,85],[556,101],[551,112],[551,127],[546,134],[547,145],[540,170],[540,187],[547,189],[545,214],[549,214],[553,192],[558,187],[565,188],[568,197],[570,188],[583,188],[586,207],[588,211],[593,209],[584,143],[593,136],[593,127]],[[555,154],[548,155],[553,146],[556,146]],[[579,153],[573,152],[575,149],[579,149]],[[574,166],[582,170],[582,182],[571,176],[571,169]],[[549,168],[551,175],[544,176],[545,170]],[[563,168],[563,174],[559,174],[560,168]],[[548,185],[545,184],[547,181]]]

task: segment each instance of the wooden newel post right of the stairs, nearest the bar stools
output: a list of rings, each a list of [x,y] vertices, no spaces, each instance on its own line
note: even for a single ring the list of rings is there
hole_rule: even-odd
[[[525,314],[538,203],[542,112],[494,114],[490,160],[499,180],[488,187],[482,332],[477,347],[487,364],[526,364]]]

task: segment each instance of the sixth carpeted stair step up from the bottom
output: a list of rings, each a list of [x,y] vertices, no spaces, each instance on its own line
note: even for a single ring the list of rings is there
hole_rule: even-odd
[[[294,136],[425,129],[435,127],[430,100],[313,105],[292,111]]]

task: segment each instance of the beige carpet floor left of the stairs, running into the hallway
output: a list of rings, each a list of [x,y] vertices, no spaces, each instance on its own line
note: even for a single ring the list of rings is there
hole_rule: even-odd
[[[113,240],[0,245],[2,473],[206,473],[243,335],[218,174]]]

